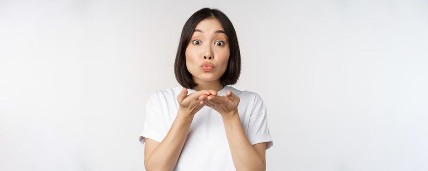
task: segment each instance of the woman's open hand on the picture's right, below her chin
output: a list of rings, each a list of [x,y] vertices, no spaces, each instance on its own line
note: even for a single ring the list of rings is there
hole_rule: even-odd
[[[232,91],[227,91],[225,96],[206,95],[200,96],[206,106],[209,106],[219,112],[223,118],[229,118],[238,113],[238,105],[241,100]]]

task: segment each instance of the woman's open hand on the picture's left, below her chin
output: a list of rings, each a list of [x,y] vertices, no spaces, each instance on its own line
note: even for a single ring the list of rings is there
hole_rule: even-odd
[[[202,95],[216,96],[217,92],[214,90],[202,90],[187,95],[187,88],[183,87],[177,96],[177,101],[180,104],[179,111],[184,113],[185,116],[194,116],[204,106],[202,99],[199,99]]]

